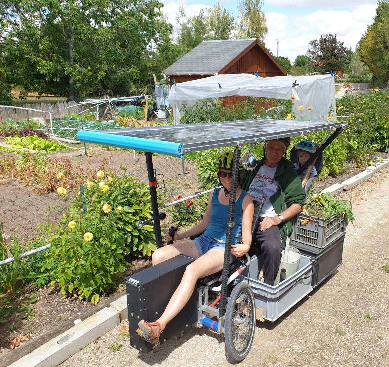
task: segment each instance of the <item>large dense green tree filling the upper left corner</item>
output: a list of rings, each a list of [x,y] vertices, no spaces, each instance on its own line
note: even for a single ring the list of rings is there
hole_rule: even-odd
[[[69,100],[107,89],[138,92],[151,78],[150,45],[172,27],[158,0],[15,0],[0,7],[4,65],[24,92]]]

